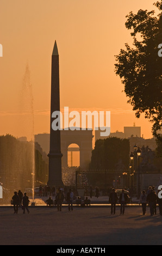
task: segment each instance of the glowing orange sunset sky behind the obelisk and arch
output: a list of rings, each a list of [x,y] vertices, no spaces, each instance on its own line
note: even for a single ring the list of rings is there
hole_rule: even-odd
[[[51,55],[57,40],[60,58],[60,107],[111,111],[111,132],[151,124],[135,118],[114,72],[114,55],[131,44],[124,26],[129,11],[155,9],[155,0],[0,0],[0,135],[25,136],[18,123],[26,64],[34,97],[34,132],[49,132]],[[28,126],[28,124],[27,124]]]

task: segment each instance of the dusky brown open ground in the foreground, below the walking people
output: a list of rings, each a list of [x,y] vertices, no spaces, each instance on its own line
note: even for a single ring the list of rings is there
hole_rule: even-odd
[[[29,208],[14,214],[0,207],[0,245],[162,245],[162,216],[142,216],[141,206],[127,206],[125,214],[110,215],[110,208],[63,206]]]

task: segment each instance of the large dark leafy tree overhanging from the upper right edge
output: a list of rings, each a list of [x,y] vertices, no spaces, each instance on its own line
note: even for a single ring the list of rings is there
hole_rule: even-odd
[[[126,16],[127,29],[133,37],[133,47],[125,44],[126,50],[120,50],[115,56],[115,72],[124,84],[124,92],[133,106],[137,118],[141,113],[153,123],[152,132],[158,139],[157,132],[162,127],[162,57],[158,56],[158,45],[162,43],[162,1],[154,3],[155,11],[132,11]]]

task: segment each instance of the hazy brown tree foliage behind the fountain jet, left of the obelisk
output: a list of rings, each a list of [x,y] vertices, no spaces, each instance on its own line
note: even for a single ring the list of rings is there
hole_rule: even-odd
[[[33,145],[11,135],[0,136],[0,181],[9,189],[32,188]],[[47,182],[48,164],[35,148],[35,181]]]

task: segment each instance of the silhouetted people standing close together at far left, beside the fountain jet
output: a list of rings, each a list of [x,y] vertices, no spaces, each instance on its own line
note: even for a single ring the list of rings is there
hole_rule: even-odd
[[[22,193],[21,190],[18,191],[18,193],[15,191],[14,196],[12,198],[13,200],[13,205],[14,205],[14,214],[18,213],[18,206],[20,206],[23,210],[23,214],[25,214],[25,211],[27,210],[29,214],[29,198],[27,196],[27,193]]]

